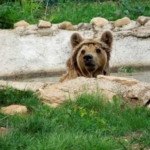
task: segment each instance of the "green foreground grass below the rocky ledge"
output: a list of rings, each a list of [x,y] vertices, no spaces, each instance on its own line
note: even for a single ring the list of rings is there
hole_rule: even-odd
[[[1,150],[124,150],[150,148],[150,110],[122,107],[99,93],[78,95],[58,108],[43,105],[31,91],[0,90],[0,105],[23,104],[25,115],[0,113]]]

